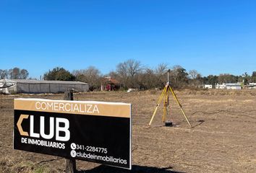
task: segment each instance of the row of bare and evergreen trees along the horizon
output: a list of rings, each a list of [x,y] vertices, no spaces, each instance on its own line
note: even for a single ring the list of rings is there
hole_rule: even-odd
[[[232,74],[220,74],[218,76],[202,76],[197,70],[187,71],[182,66],[176,65],[169,67],[166,63],[160,63],[150,68],[143,66],[140,61],[129,59],[118,63],[115,71],[108,74],[102,74],[95,66],[89,66],[85,69],[67,71],[64,68],[56,67],[43,74],[44,80],[60,81],[82,81],[90,84],[91,89],[100,89],[101,82],[106,76],[111,76],[120,82],[121,88],[140,88],[153,89],[162,88],[167,81],[167,71],[169,72],[169,81],[174,88],[198,87],[202,84],[222,84],[241,82],[246,85],[249,82],[256,82],[256,71],[250,76],[244,73],[239,76]],[[27,79],[28,71],[20,68],[9,70],[0,70],[1,79]]]

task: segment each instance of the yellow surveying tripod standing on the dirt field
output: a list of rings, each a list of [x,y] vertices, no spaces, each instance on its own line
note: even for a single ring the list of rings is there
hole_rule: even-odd
[[[176,97],[176,94],[174,93],[174,90],[170,86],[169,72],[170,72],[170,70],[167,71],[168,81],[166,83],[166,86],[164,86],[164,89],[163,89],[163,92],[162,92],[161,96],[158,99],[158,103],[157,103],[157,105],[155,107],[155,111],[154,111],[154,113],[153,113],[153,115],[151,117],[149,125],[151,125],[151,123],[152,123],[152,121],[153,121],[153,119],[155,117],[156,111],[158,110],[158,107],[161,105],[161,102],[162,102],[163,99],[164,99],[164,105],[163,105],[162,121],[163,121],[163,123],[166,122],[167,107],[168,107],[168,104],[169,104],[169,94],[171,92],[171,94],[173,95],[173,97],[176,100],[177,104],[179,105],[180,109],[182,110],[182,114],[184,115],[185,119],[187,120],[187,123],[189,124],[189,126],[191,128],[192,126],[189,123],[189,120],[187,119],[187,116],[186,116],[184,110],[182,109],[182,105],[180,104],[179,99]]]

